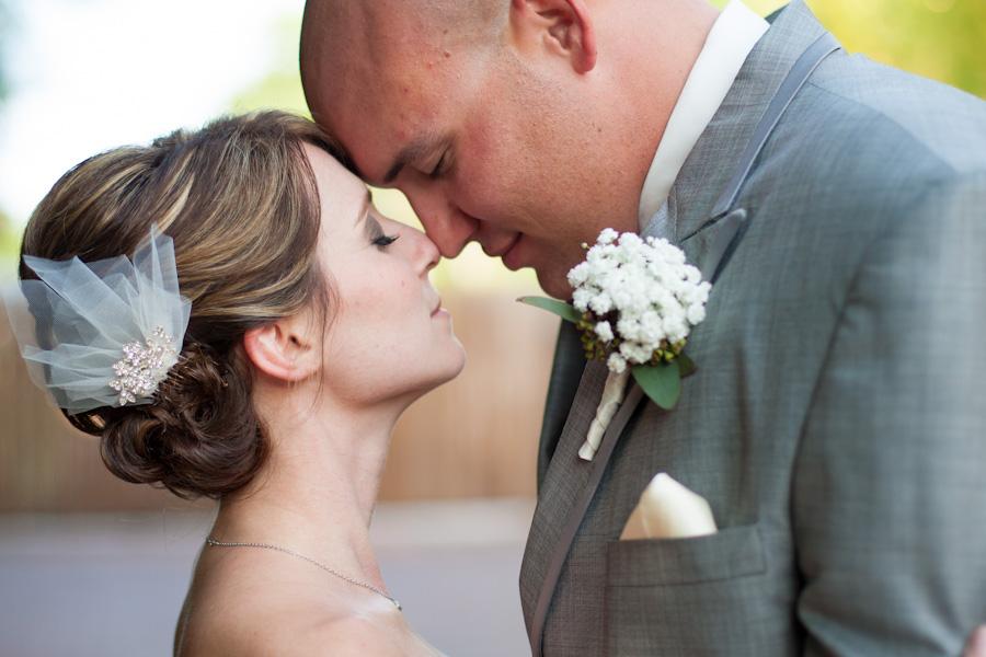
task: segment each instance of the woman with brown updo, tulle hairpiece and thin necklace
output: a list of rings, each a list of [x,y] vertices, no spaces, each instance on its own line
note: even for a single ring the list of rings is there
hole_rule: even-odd
[[[35,381],[117,476],[218,503],[176,655],[437,654],[368,529],[398,417],[465,355],[435,245],[333,152],[219,119],[79,164],[25,231]]]

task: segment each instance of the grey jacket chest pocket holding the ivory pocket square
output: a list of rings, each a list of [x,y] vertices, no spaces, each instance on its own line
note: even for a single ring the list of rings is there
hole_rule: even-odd
[[[707,537],[609,542],[606,654],[776,654],[787,642],[776,634],[772,645],[765,642],[780,620],[766,573],[756,525]]]

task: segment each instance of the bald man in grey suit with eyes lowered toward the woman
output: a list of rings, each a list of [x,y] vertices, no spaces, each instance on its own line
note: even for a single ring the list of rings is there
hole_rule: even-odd
[[[677,406],[631,391],[593,462],[606,369],[560,335],[535,655],[958,655],[986,619],[986,104],[833,42],[801,0],[306,7],[313,116],[444,255],[567,299],[612,227],[713,280]],[[716,533],[619,540],[658,472]]]

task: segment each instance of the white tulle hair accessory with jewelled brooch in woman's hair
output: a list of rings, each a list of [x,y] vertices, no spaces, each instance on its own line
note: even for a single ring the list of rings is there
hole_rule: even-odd
[[[171,238],[153,223],[133,260],[24,263],[41,280],[10,288],[5,303],[31,380],[72,414],[152,403],[192,311]]]

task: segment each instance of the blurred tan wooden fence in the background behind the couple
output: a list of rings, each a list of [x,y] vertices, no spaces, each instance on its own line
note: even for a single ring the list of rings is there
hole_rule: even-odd
[[[381,499],[534,494],[558,321],[515,297],[444,296],[466,370],[401,418]],[[0,309],[0,512],[162,506],[188,503],[105,470],[96,439],[72,429],[27,379]]]

